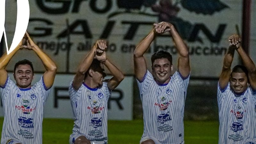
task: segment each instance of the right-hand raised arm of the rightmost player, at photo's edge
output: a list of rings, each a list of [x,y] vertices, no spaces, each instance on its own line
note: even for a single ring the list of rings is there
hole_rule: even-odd
[[[253,90],[256,90],[255,64],[253,63],[252,59],[247,55],[247,53],[244,51],[244,49],[242,48],[242,46],[240,44],[239,44],[239,47],[236,49],[236,51],[241,56],[243,64],[244,64],[245,68],[248,70],[248,78],[249,78],[250,85],[252,86]]]

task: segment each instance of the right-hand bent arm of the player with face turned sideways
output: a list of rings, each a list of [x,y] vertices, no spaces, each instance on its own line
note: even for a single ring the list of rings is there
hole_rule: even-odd
[[[104,65],[108,68],[113,77],[108,81],[108,89],[114,90],[118,84],[124,79],[124,74],[116,68],[109,60],[104,62]]]

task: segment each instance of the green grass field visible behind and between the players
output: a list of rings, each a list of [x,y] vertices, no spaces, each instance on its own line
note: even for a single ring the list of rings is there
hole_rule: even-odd
[[[2,130],[4,118],[0,118]],[[186,144],[217,144],[218,121],[185,121]],[[44,118],[43,143],[68,144],[72,132],[73,120]],[[143,133],[143,121],[108,121],[109,144],[139,144]]]

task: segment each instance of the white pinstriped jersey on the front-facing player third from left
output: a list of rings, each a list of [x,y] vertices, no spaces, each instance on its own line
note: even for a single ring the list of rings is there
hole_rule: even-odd
[[[168,84],[157,84],[147,71],[143,81],[137,80],[143,108],[143,137],[151,136],[161,144],[184,141],[184,104],[189,76],[182,78],[176,71]]]

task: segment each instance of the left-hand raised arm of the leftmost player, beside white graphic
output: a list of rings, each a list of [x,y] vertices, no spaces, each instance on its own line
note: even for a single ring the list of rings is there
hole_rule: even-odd
[[[24,38],[22,40],[25,40]],[[7,55],[7,53],[5,53],[1,58],[0,58],[0,86],[4,87],[4,84],[6,82],[7,79],[7,71],[5,70],[5,67],[7,66],[7,64],[9,63],[9,61],[12,59],[12,57],[14,56],[14,54],[21,48],[23,48],[22,46],[22,40],[20,41],[20,43],[16,46],[16,48]]]

